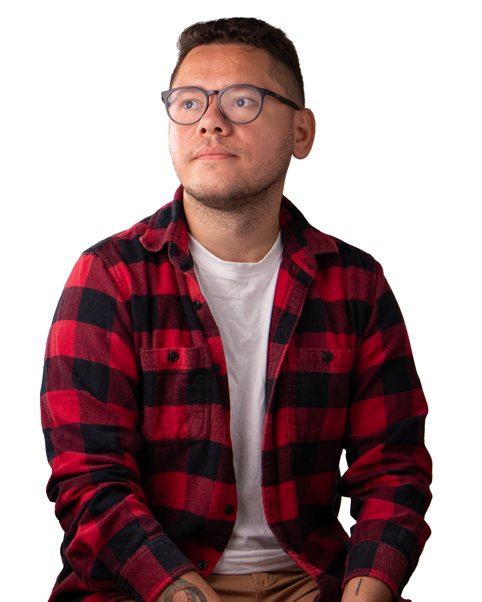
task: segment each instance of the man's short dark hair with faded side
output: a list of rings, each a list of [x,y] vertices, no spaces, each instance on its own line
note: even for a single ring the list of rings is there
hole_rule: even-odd
[[[187,54],[196,46],[210,43],[241,44],[260,48],[272,57],[270,75],[286,89],[287,98],[299,108],[305,105],[303,77],[295,45],[286,35],[264,21],[254,17],[231,17],[207,23],[196,23],[183,31],[178,40],[181,51],[178,64],[172,73],[169,88]],[[294,111],[294,109],[293,109]]]

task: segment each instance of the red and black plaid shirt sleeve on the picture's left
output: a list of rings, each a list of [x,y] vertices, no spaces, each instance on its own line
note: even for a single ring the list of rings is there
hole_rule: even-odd
[[[66,533],[55,587],[70,599],[65,584],[77,576],[83,591],[114,588],[152,602],[195,568],[152,516],[140,485],[142,399],[130,299],[117,268],[95,252],[80,257],[46,346],[46,491]]]

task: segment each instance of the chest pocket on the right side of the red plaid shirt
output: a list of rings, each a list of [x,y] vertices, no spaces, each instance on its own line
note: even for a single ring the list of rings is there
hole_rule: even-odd
[[[286,418],[291,442],[342,436],[354,356],[354,349],[288,350]]]

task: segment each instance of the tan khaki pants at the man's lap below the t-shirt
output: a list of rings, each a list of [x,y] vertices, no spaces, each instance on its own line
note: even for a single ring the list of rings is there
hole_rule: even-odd
[[[223,602],[313,602],[319,594],[316,581],[302,572],[211,574],[204,580]],[[340,592],[339,597],[331,598],[329,602],[340,602],[341,599]]]

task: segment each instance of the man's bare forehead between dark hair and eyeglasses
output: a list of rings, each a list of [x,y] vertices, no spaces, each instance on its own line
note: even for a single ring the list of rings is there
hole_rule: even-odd
[[[205,89],[221,89],[231,84],[269,87],[275,85],[269,75],[270,69],[271,55],[259,48],[242,44],[204,44],[187,54],[173,87],[198,85],[207,86]]]

